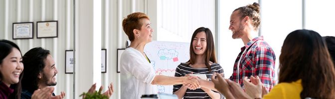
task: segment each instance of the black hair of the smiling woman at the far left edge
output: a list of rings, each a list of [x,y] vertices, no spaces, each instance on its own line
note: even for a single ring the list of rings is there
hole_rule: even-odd
[[[18,51],[20,51],[20,54],[21,54],[21,50],[18,48],[18,46],[15,43],[8,41],[8,40],[0,40],[0,64],[2,64],[3,59],[13,50],[13,48],[16,48]],[[22,76],[23,76],[23,72],[20,74],[18,78],[19,79],[18,83],[10,85],[10,88],[14,89],[14,92],[10,94],[9,99],[20,99],[21,98]],[[0,80],[2,78],[3,77],[0,72]]]

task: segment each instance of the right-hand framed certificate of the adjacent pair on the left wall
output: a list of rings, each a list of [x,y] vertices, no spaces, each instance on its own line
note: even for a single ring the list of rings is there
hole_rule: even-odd
[[[37,38],[57,38],[58,37],[58,21],[39,21],[36,24]]]

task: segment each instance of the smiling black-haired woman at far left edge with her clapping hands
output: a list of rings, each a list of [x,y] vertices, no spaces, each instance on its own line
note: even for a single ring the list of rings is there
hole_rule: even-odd
[[[0,99],[21,99],[22,71],[22,54],[18,46],[0,40]],[[53,87],[38,89],[31,99],[48,99],[53,90]]]

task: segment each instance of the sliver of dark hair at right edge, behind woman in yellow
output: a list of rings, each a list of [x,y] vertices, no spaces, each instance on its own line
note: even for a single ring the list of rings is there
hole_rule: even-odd
[[[327,44],[328,51],[333,59],[333,63],[335,64],[335,37],[333,36],[326,36],[323,37]]]

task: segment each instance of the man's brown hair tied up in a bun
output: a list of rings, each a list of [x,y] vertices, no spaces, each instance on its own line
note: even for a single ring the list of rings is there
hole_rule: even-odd
[[[252,20],[252,26],[255,30],[259,29],[259,25],[261,24],[261,16],[260,16],[260,7],[259,4],[254,2],[253,4],[248,4],[246,6],[242,6],[236,8],[234,11],[239,11],[240,19],[243,19],[245,16],[249,16]],[[233,11],[233,12],[234,12]]]

